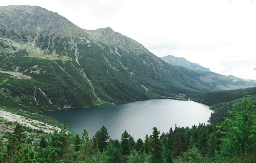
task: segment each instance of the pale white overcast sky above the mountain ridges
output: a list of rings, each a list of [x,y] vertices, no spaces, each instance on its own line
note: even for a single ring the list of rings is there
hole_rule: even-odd
[[[57,12],[84,29],[111,27],[158,57],[173,55],[223,75],[256,80],[253,0],[5,0]]]

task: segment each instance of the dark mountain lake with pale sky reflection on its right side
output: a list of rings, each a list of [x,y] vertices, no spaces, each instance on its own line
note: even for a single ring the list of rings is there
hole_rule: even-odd
[[[124,130],[135,141],[144,140],[146,134],[152,135],[153,127],[161,133],[170,128],[207,124],[213,111],[209,106],[193,101],[173,99],[143,100],[116,104],[104,108],[72,108],[48,111],[44,115],[68,124],[69,129],[81,136],[83,129],[92,138],[104,125],[112,139],[121,139]]]

